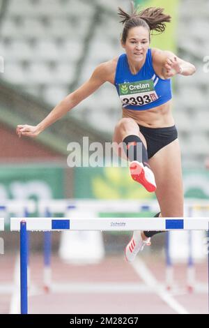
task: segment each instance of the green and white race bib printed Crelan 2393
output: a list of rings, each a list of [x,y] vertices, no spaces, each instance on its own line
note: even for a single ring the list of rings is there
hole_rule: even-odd
[[[153,80],[120,83],[118,87],[123,107],[127,105],[142,106],[158,99]]]

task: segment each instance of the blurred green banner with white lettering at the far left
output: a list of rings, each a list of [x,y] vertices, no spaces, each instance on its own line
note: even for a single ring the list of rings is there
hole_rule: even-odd
[[[61,167],[48,165],[1,165],[0,203],[5,200],[49,200],[64,197],[64,174]],[[2,212],[2,211],[1,211]],[[13,213],[16,215],[17,213]],[[20,214],[20,213],[19,213]],[[23,214],[22,214],[23,215]],[[34,213],[33,215],[38,215]],[[6,216],[8,228],[10,215]]]

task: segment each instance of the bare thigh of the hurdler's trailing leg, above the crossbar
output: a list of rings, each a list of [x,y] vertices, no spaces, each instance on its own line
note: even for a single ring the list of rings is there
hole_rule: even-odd
[[[150,158],[162,216],[183,216],[183,177],[178,139]]]

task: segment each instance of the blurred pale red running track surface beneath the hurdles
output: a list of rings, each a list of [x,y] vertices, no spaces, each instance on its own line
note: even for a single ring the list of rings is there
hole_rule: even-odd
[[[157,282],[163,283],[164,260],[148,255],[143,258]],[[0,313],[9,313],[12,292],[3,292],[3,286],[12,286],[15,257],[3,255],[0,261]],[[32,255],[30,263],[29,294],[32,295],[29,295],[29,313],[176,313],[155,290],[146,286],[132,265],[121,256],[105,258],[100,264],[88,265],[65,264],[53,256],[52,281],[54,284],[62,284],[64,289],[48,294],[42,291],[42,255]],[[207,265],[207,261],[196,264],[196,281],[204,283],[205,287],[208,283]],[[173,299],[188,313],[208,313],[207,288],[190,294],[185,290],[185,264],[178,264],[174,274],[180,290],[175,292]],[[75,290],[70,291],[69,288],[73,286]],[[100,291],[96,290],[97,286]],[[139,290],[134,290],[134,286]],[[88,290],[85,291],[85,288]]]

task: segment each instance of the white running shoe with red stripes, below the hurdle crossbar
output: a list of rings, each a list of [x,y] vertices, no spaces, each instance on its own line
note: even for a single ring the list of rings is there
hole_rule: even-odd
[[[144,246],[149,246],[150,244],[150,238],[143,240],[141,238],[141,231],[134,231],[132,239],[125,248],[125,258],[127,262],[132,262],[137,253],[143,251]]]

